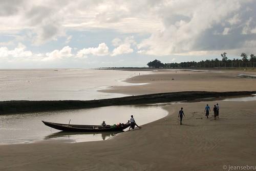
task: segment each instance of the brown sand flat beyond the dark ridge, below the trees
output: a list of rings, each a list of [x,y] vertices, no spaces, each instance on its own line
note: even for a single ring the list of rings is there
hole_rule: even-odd
[[[101,92],[140,95],[177,91],[255,91],[256,79],[238,77],[238,71],[195,72],[155,71],[127,79],[129,83],[149,83],[137,86],[116,86]],[[248,73],[248,72],[246,72]],[[174,80],[172,80],[174,78]]]

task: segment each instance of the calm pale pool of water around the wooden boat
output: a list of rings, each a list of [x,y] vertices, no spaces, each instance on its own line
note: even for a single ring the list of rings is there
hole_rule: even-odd
[[[143,125],[167,115],[159,106],[109,106],[92,109],[65,110],[41,113],[0,115],[0,144],[30,143],[40,140],[65,140],[67,142],[97,141],[108,139],[116,132],[65,133],[45,126],[41,120],[54,123],[100,125],[103,120],[113,125],[126,123],[131,115]]]

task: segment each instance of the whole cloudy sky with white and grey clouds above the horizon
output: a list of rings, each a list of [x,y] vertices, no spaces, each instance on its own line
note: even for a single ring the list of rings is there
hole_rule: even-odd
[[[0,68],[232,59],[255,46],[254,0],[0,0]]]

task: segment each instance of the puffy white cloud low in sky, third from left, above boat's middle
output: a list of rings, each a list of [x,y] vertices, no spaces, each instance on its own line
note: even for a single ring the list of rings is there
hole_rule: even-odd
[[[77,57],[82,58],[87,55],[104,56],[109,54],[109,47],[105,43],[100,43],[98,47],[83,48],[77,52]]]

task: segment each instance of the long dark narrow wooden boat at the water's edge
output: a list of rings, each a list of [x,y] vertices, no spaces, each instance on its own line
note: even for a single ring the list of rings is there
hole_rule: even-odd
[[[122,131],[125,128],[130,127],[129,125],[120,125],[120,126],[106,126],[102,127],[101,125],[71,125],[71,124],[58,124],[50,123],[48,121],[42,120],[46,126],[61,130],[61,131],[75,131],[75,132],[105,132],[105,131]]]

